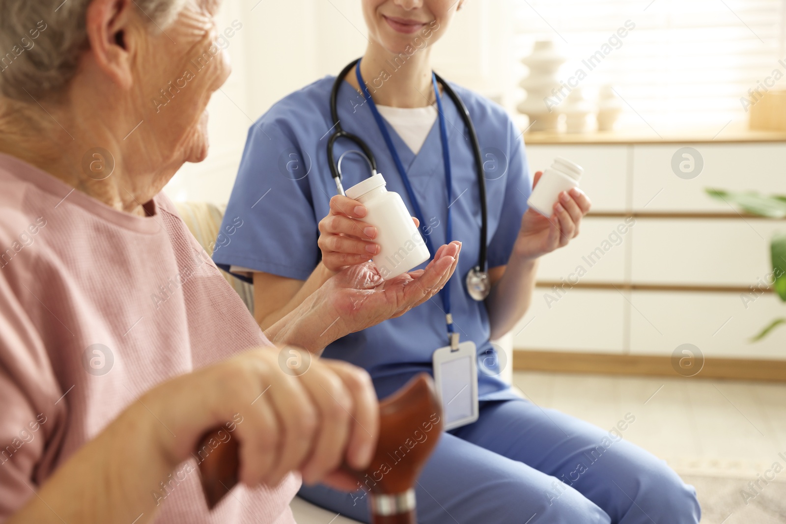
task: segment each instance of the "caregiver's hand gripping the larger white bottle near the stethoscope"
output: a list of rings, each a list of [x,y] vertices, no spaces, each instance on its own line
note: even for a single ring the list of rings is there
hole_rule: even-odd
[[[322,251],[322,264],[337,273],[347,266],[368,262],[380,251],[376,227],[362,222],[367,214],[358,200],[336,195],[330,199],[330,212],[319,221],[318,245]],[[417,218],[412,218],[420,225]]]

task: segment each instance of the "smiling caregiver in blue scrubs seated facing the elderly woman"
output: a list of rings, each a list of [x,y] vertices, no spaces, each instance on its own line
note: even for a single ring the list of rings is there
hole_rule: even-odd
[[[509,332],[526,312],[538,257],[578,234],[589,200],[572,190],[560,195],[549,218],[527,210],[533,180],[520,130],[497,104],[451,83],[476,127],[487,186],[492,288],[486,299],[472,299],[465,275],[480,249],[479,183],[468,130],[449,97],[438,114],[443,90],[434,88],[430,62],[431,46],[463,0],[359,3],[369,45],[359,71],[352,69],[340,85],[340,126],[369,145],[387,189],[399,192],[414,214],[406,177],[422,211],[421,233],[432,245],[461,241],[456,275],[447,284],[449,307],[455,331],[474,342],[478,354],[479,419],[443,434],[417,484],[418,522],[699,522],[695,490],[662,460],[623,440],[619,431],[523,400],[499,379],[489,340]],[[331,178],[326,143],[335,127],[329,108],[334,80],[318,80],[278,101],[248,132],[226,210],[225,226],[234,234],[214,256],[219,266],[253,280],[255,316],[263,328],[336,271],[367,261],[379,249],[374,224],[362,222],[365,208],[336,196]],[[339,139],[335,158],[353,149],[358,146]],[[343,157],[341,168],[345,188],[369,176],[365,159],[355,153]],[[434,297],[337,340],[324,355],[368,370],[384,398],[417,372],[432,372],[432,354],[447,342],[444,309]],[[626,423],[635,415],[628,414]],[[300,496],[368,522],[369,497],[362,489],[303,486]]]

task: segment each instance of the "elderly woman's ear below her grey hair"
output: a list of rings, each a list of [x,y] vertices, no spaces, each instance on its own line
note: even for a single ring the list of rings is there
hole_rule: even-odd
[[[134,44],[139,32],[145,31],[134,2],[93,0],[87,8],[85,28],[95,65],[118,86],[130,88]]]

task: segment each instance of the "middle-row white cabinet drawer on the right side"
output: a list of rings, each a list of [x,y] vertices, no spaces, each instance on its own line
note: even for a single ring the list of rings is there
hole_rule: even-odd
[[[630,229],[637,284],[744,285],[772,271],[769,240],[786,222],[637,218]]]

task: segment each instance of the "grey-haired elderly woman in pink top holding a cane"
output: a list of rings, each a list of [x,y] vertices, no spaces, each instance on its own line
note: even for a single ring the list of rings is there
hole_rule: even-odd
[[[217,8],[0,0],[0,522],[293,522],[300,475],[369,463],[378,413],[362,370],[293,377],[271,342],[318,354],[453,273],[459,244],[387,282],[353,266],[263,335],[160,194],[207,152]],[[220,424],[243,485],[208,512],[192,453]]]

